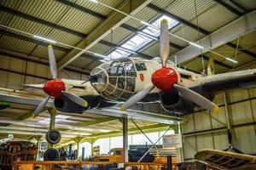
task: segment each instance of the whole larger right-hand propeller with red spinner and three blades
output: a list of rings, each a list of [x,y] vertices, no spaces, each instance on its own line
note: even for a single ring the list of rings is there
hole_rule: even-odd
[[[209,99],[205,98],[201,94],[195,93],[189,88],[183,87],[181,84],[178,84],[178,72],[175,71],[172,67],[166,67],[166,63],[169,56],[169,34],[168,34],[168,23],[167,20],[161,20],[160,23],[160,59],[162,63],[162,68],[157,71],[154,71],[154,74],[151,77],[152,85],[148,88],[144,88],[142,91],[138,92],[130,99],[128,99],[121,109],[125,110],[131,105],[137,104],[138,101],[146,97],[150,91],[154,88],[158,88],[164,93],[171,93],[173,88],[176,88],[180,94],[185,98],[191,100],[196,105],[200,105],[202,108],[207,109],[208,111],[218,112],[218,105],[215,105]]]

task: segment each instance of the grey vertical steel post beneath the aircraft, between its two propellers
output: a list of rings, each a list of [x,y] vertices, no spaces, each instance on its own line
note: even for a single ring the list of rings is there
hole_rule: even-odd
[[[124,158],[123,161],[128,161],[128,119],[123,117],[123,148],[124,148]]]

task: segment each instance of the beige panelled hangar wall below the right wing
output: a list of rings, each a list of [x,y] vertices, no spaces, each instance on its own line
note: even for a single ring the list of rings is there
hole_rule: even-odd
[[[227,124],[230,122],[234,147],[246,154],[256,154],[256,88],[240,89],[218,94],[214,102],[218,113],[195,112],[187,116],[182,126],[183,158],[189,160],[198,150],[225,150],[229,147]]]

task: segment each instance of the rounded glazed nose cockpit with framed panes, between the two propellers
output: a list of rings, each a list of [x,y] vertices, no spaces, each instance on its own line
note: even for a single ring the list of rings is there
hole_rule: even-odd
[[[136,71],[131,59],[103,63],[90,73],[91,85],[106,99],[126,100],[135,90]]]

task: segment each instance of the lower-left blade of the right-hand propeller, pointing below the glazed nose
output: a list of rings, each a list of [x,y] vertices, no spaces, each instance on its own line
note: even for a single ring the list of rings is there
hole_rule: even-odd
[[[121,105],[121,110],[125,111],[132,105],[137,104],[140,100],[148,95],[148,93],[154,88],[154,85],[149,86],[148,88],[144,88],[142,91],[138,92],[137,94],[131,96],[123,105]]]

